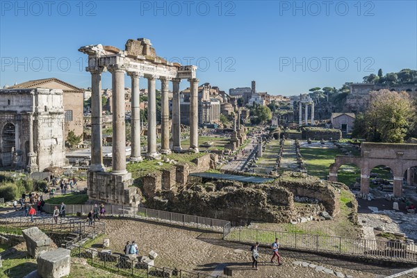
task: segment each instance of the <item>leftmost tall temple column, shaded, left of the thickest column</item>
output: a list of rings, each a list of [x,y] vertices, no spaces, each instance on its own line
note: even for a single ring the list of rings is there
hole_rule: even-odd
[[[91,165],[90,171],[103,172],[103,108],[101,104],[102,67],[89,70],[91,73]]]

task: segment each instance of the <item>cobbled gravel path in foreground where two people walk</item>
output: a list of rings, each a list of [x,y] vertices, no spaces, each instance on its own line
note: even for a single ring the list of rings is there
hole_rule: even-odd
[[[140,255],[145,255],[150,250],[159,254],[155,264],[161,267],[198,270],[211,274],[218,265],[224,263],[234,270],[234,277],[334,277],[293,264],[293,261],[303,260],[352,277],[368,278],[393,273],[389,268],[380,266],[288,250],[280,252],[284,265],[279,266],[269,263],[271,254],[267,248],[260,250],[259,270],[252,270],[250,246],[221,240],[221,234],[135,220],[108,219],[105,222],[113,252],[122,252],[127,240],[136,240]]]

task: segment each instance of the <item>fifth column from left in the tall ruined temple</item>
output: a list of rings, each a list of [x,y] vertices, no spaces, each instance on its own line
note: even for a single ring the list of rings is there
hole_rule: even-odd
[[[170,79],[161,77],[161,154],[170,154],[170,105],[168,85]]]

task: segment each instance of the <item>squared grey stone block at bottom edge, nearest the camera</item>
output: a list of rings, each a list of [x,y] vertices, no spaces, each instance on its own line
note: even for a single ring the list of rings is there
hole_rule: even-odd
[[[38,274],[42,278],[59,278],[70,275],[71,251],[57,248],[38,256]]]

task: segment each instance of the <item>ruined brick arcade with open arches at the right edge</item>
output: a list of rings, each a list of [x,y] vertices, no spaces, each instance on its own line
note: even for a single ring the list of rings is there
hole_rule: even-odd
[[[343,164],[354,164],[361,169],[361,193],[363,195],[369,193],[369,177],[373,167],[378,165],[390,167],[394,176],[393,193],[395,197],[400,197],[404,177],[407,177],[409,184],[414,180],[414,169],[417,167],[417,144],[363,142],[361,156],[336,156],[335,162],[330,165],[330,181],[337,181],[338,168]]]

